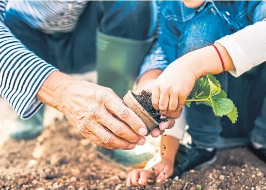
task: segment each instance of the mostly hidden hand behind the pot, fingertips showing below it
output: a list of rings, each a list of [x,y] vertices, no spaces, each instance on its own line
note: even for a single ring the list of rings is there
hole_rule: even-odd
[[[139,86],[136,89],[135,93],[139,94],[142,90],[146,90],[146,91],[149,90],[151,92],[153,87],[154,87],[154,82],[155,82],[155,80],[150,80],[149,82],[145,83],[144,85]],[[180,110],[178,113],[181,114],[181,112],[182,112],[182,110]],[[156,127],[155,129],[153,129],[150,132],[150,135],[152,137],[159,137],[161,134],[164,133],[164,130],[172,128],[174,126],[174,124],[175,124],[175,120],[172,118],[168,118],[168,121],[161,122],[159,124],[159,127]]]

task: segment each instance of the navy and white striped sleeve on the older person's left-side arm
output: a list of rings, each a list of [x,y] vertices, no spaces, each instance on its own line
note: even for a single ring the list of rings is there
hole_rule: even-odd
[[[42,106],[36,94],[58,70],[25,47],[3,23],[7,1],[0,1],[0,94],[22,119]]]

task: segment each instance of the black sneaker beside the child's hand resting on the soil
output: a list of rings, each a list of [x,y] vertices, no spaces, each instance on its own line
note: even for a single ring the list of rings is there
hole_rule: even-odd
[[[216,161],[216,149],[207,151],[194,144],[180,145],[176,155],[173,176],[181,176],[183,172],[192,169],[200,169],[205,165],[211,165]]]

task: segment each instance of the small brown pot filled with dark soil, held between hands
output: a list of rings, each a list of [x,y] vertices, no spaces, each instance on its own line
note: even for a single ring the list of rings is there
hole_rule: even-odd
[[[137,114],[145,123],[148,131],[158,127],[160,122],[167,121],[161,119],[159,110],[154,109],[151,103],[151,93],[142,90],[140,94],[134,94],[131,90],[123,98],[124,103]]]

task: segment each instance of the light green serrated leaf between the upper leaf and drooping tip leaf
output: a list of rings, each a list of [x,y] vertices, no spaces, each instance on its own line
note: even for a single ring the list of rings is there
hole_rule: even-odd
[[[223,115],[231,112],[233,109],[233,101],[228,98],[217,99],[215,96],[213,96],[211,97],[211,103],[216,116],[222,117]]]

